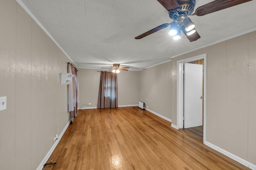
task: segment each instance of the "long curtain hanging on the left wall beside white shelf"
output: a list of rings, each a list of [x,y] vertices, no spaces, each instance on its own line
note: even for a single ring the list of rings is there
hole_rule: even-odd
[[[74,117],[78,115],[77,104],[79,101],[79,84],[78,84],[78,70],[73,64],[68,63],[68,73],[74,75],[71,83],[68,84],[68,111],[70,111],[71,122],[74,123]]]

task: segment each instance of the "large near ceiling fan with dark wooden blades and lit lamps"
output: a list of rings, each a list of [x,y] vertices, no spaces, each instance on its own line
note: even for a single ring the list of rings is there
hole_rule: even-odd
[[[194,14],[192,14],[196,5],[196,0],[158,0],[158,2],[168,11],[169,17],[173,21],[171,23],[159,25],[158,27],[135,37],[135,39],[141,39],[170,25],[169,34],[172,35],[174,39],[180,39],[180,32],[182,31],[190,42],[196,41],[200,38],[200,35],[195,29],[196,25],[191,21],[189,16],[204,16],[248,1],[251,0],[215,0],[198,7]]]

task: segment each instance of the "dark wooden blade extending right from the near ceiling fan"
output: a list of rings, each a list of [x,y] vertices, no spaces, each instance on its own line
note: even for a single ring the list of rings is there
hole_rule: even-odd
[[[215,0],[196,9],[196,16],[204,16],[212,12],[223,10],[225,8],[230,8],[239,4],[243,4],[251,0]]]

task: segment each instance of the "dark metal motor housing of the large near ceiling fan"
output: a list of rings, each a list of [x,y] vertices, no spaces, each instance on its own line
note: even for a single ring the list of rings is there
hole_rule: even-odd
[[[180,8],[176,8],[173,10],[169,10],[169,17],[174,20],[175,14],[180,14],[180,12],[186,12],[187,15],[191,15],[194,11],[194,7],[196,5],[196,0],[177,0]]]

